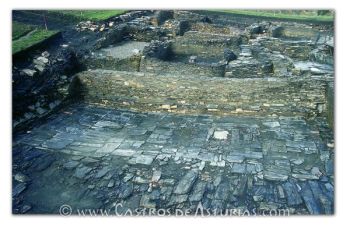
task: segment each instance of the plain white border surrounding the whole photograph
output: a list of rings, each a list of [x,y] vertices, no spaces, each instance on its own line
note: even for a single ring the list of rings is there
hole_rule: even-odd
[[[330,229],[341,228],[347,222],[347,208],[349,202],[349,171],[346,170],[350,162],[350,153],[347,151],[349,145],[349,106],[348,98],[350,92],[349,84],[349,8],[344,0],[236,0],[229,3],[224,0],[202,0],[190,2],[185,0],[161,1],[161,0],[98,0],[98,1],[72,1],[60,0],[3,0],[1,1],[1,75],[0,93],[3,113],[0,119],[1,127],[1,152],[0,152],[0,223],[3,227],[19,227],[21,229],[104,229],[137,227],[144,229],[179,229],[188,227],[191,229],[208,228],[243,228],[243,229]],[[14,216],[11,214],[11,11],[13,9],[333,9],[336,11],[336,186],[335,186],[335,215],[324,217],[109,217],[109,218],[79,218],[59,216]],[[342,103],[343,102],[343,103]],[[181,224],[181,225],[179,225]]]

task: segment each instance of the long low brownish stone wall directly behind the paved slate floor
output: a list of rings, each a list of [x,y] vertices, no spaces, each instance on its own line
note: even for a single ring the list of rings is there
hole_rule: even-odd
[[[326,105],[326,83],[312,79],[173,77],[106,70],[81,72],[76,78],[85,101],[136,111],[316,116]]]

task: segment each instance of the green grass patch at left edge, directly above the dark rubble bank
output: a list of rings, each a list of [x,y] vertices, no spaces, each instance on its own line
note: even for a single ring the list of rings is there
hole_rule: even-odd
[[[38,44],[56,33],[58,31],[35,29],[29,34],[12,41],[12,54]]]

